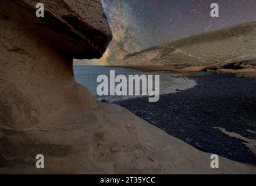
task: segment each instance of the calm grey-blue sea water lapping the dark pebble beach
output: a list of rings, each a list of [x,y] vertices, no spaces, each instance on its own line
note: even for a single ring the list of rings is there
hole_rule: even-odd
[[[116,68],[111,66],[74,66],[74,77],[77,83],[84,85],[98,100],[105,99],[109,102],[122,101],[123,99],[136,98],[138,96],[98,96],[97,77],[105,74],[109,77],[109,71],[115,70],[115,76],[119,74],[125,75],[160,75],[160,94],[169,94],[177,91],[187,90],[194,87],[195,81],[181,77],[179,74],[163,71],[141,71],[134,69]]]

